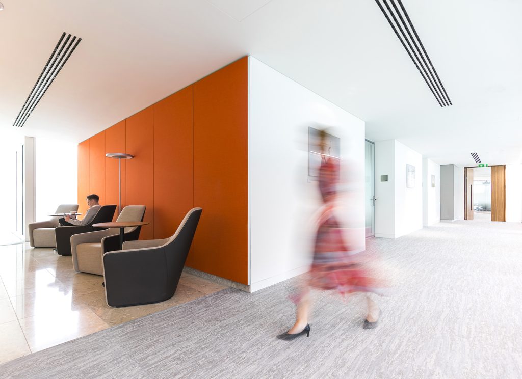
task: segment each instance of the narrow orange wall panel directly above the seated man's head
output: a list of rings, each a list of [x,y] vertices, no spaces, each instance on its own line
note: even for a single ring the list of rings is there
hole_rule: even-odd
[[[89,191],[100,197],[100,204],[105,201],[105,131],[92,136],[89,139]],[[89,193],[84,195],[85,197]]]

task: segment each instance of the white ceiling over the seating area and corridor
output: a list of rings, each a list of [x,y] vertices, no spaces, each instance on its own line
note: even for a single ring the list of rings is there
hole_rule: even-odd
[[[251,54],[440,164],[522,162],[522,2],[403,0],[441,108],[374,0],[2,0],[0,130],[62,32],[82,38],[22,130],[84,140]],[[241,20],[241,21],[239,21]]]

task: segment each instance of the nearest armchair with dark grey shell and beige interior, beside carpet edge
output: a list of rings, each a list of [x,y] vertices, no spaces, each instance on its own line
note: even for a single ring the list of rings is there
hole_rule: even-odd
[[[174,296],[200,216],[201,208],[193,208],[172,237],[128,241],[123,250],[103,254],[107,304],[127,307]]]

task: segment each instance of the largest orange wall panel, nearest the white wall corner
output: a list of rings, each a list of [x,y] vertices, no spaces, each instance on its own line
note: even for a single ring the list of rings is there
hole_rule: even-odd
[[[194,268],[248,284],[248,61],[194,83]]]

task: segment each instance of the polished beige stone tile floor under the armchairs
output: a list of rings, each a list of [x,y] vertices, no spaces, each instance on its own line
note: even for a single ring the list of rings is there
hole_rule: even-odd
[[[227,288],[183,273],[167,301],[111,308],[102,282],[52,248],[0,246],[0,363]]]

